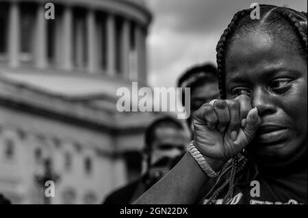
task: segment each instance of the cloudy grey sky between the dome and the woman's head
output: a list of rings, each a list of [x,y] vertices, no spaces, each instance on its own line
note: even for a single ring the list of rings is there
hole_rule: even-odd
[[[307,12],[307,0],[147,0],[153,12],[149,29],[149,85],[174,87],[193,64],[215,62],[222,31],[238,10],[251,3],[289,5]]]

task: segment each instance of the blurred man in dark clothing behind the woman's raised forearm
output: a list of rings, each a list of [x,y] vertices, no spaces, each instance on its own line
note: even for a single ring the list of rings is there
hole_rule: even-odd
[[[108,195],[103,204],[131,204],[148,190],[172,166],[175,157],[186,151],[189,137],[182,124],[171,117],[155,120],[145,133],[145,173],[136,181]]]

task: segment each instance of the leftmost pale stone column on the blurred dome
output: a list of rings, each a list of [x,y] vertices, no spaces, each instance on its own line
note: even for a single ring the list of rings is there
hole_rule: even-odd
[[[19,5],[15,1],[10,4],[9,9],[9,33],[8,33],[8,56],[11,67],[19,66],[19,52],[21,47],[19,27]]]

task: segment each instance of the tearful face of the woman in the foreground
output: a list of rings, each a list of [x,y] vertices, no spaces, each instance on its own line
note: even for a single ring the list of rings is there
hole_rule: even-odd
[[[261,125],[247,148],[261,165],[307,159],[307,59],[268,33],[235,38],[226,54],[227,98],[251,96]]]

